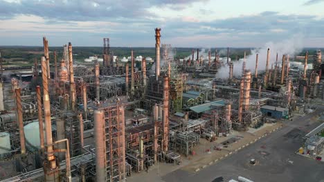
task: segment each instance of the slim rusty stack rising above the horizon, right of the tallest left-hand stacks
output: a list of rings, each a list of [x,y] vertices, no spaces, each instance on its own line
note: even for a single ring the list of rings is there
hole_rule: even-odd
[[[71,97],[71,108],[75,110],[75,83],[74,83],[74,73],[73,73],[73,55],[72,55],[72,44],[69,42],[69,67],[70,67],[70,97]]]

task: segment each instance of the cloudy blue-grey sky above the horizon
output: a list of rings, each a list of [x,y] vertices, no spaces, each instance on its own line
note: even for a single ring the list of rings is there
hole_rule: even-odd
[[[0,0],[0,45],[324,47],[324,0]]]

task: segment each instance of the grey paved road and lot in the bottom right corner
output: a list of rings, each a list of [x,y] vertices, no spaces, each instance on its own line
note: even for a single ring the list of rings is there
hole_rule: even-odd
[[[312,114],[298,117],[294,121],[285,121],[285,127],[260,139],[253,145],[240,150],[228,158],[210,165],[197,173],[176,170],[163,176],[163,181],[203,182],[224,181],[245,176],[253,181],[309,181],[324,182],[324,163],[294,154],[302,143],[302,137],[319,124],[312,117],[322,113],[324,107]],[[250,159],[256,159],[257,165],[249,165]],[[293,164],[289,161],[294,161]]]

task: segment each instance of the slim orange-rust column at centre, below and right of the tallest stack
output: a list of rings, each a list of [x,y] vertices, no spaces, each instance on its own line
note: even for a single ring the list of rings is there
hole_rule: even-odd
[[[163,152],[168,152],[169,143],[169,77],[163,77]]]

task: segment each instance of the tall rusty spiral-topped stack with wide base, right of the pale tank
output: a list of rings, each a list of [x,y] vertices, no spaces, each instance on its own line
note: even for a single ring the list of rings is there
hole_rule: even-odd
[[[43,79],[43,105],[46,132],[46,164],[44,165],[45,181],[59,181],[59,171],[53,151],[53,138],[51,126],[51,103],[48,94],[48,72],[46,58],[42,57],[42,79]]]

